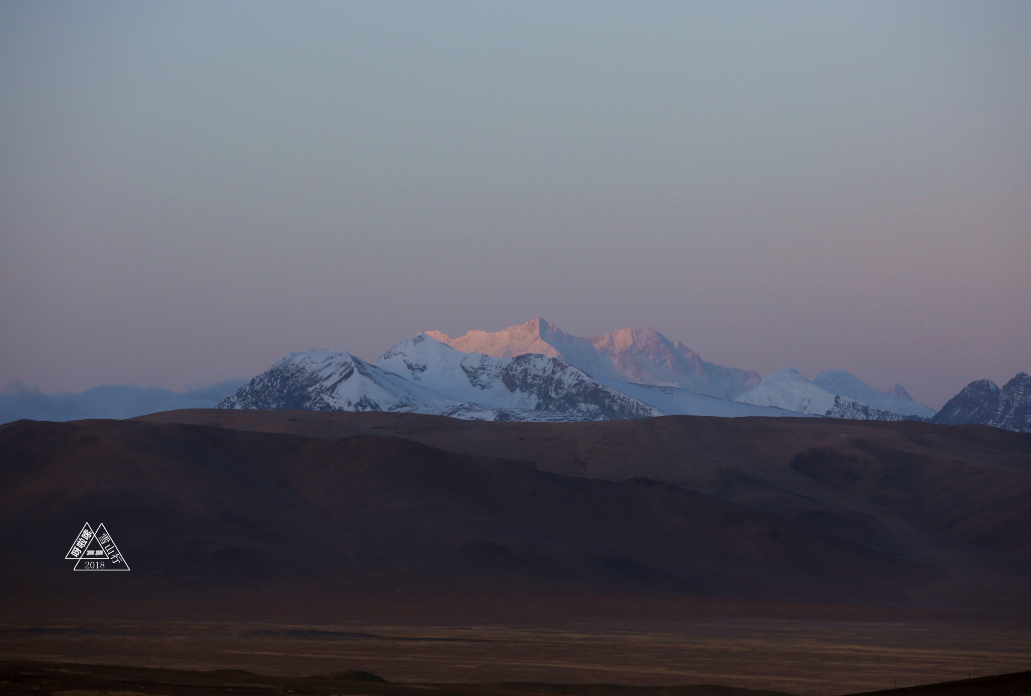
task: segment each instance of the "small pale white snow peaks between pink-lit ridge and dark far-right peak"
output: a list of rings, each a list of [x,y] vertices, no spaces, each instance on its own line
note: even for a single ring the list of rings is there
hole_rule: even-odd
[[[905,392],[901,385],[895,387]],[[863,421],[928,419],[934,416],[930,406],[878,391],[845,370],[821,372],[811,382],[790,367],[777,370],[737,397],[736,401],[799,413]]]

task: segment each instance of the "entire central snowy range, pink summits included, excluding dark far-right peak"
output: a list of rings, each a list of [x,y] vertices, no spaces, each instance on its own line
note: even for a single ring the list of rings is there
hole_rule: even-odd
[[[537,318],[496,332],[427,331],[375,363],[343,352],[293,353],[221,408],[385,410],[489,421],[654,416],[928,419],[901,385],[882,392],[844,370],[765,379],[705,362],[653,329],[579,337]]]

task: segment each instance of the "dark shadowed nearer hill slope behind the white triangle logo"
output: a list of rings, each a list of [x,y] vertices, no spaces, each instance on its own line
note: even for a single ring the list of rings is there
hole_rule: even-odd
[[[652,479],[586,478],[396,437],[23,421],[0,428],[0,525],[20,559],[0,576],[31,592],[106,583],[119,596],[275,587],[298,597],[604,591],[897,603],[940,575]],[[85,521],[117,537],[132,567],[124,581],[70,571],[63,553]]]

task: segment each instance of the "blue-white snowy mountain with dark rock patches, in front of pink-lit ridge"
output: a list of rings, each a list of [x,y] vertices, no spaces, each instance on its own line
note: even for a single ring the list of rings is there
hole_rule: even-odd
[[[292,353],[220,408],[386,410],[462,419],[579,421],[692,416],[797,416],[675,387],[596,379],[540,354],[463,353],[426,334],[375,364],[338,351]]]

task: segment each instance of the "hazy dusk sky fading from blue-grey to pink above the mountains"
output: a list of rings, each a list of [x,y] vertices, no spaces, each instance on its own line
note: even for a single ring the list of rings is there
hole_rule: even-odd
[[[648,326],[1031,370],[1031,3],[0,4],[0,386]]]

